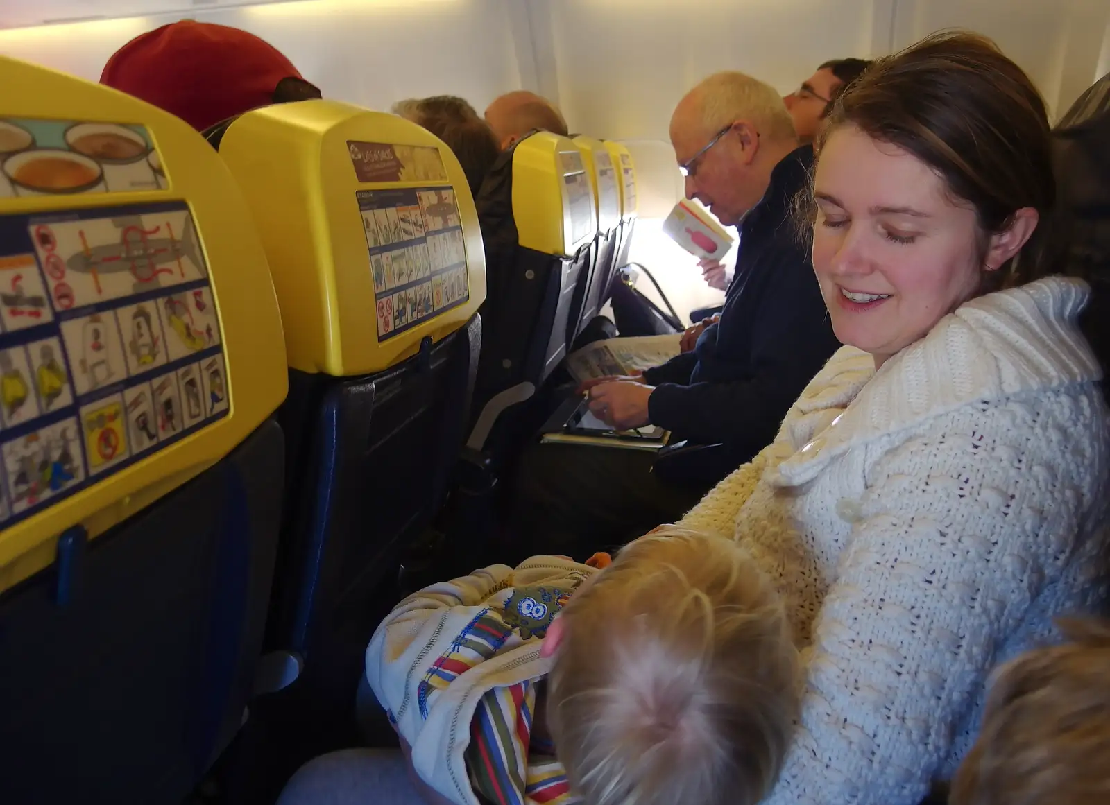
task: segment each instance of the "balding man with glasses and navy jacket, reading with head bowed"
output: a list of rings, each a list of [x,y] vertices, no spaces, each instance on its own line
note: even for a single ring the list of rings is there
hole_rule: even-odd
[[[781,96],[743,73],[712,75],[675,109],[670,141],[686,195],[740,228],[737,278],[693,350],[639,377],[594,381],[591,408],[618,428],[653,424],[673,440],[723,444],[724,460],[702,488],[678,489],[650,471],[648,452],[534,445],[517,473],[525,552],[593,550],[673,522],[774,439],[839,346],[793,217],[813,149],[799,147]]]

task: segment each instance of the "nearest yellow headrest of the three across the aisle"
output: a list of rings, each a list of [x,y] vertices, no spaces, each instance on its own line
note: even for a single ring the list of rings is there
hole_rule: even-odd
[[[573,257],[597,234],[594,192],[568,137],[536,132],[513,152],[513,218],[518,243]]]

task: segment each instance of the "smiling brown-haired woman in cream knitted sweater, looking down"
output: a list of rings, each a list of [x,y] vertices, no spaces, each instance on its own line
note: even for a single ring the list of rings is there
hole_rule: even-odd
[[[916,805],[989,670],[1104,600],[1108,412],[1050,276],[1049,123],[989,41],[930,37],[833,110],[806,205],[845,346],[679,523],[743,539],[801,650],[768,805]],[[737,411],[737,416],[743,416]]]

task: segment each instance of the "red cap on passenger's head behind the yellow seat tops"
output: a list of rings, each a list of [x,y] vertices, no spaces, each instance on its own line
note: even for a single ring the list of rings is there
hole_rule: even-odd
[[[300,96],[281,98],[279,85],[293,82],[302,85]],[[164,109],[198,131],[282,100],[320,96],[269,42],[194,20],[132,39],[108,60],[100,83]]]

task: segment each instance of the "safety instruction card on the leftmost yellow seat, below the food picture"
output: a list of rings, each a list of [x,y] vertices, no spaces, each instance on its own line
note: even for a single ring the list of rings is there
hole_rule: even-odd
[[[0,528],[226,416],[181,202],[0,216]]]

